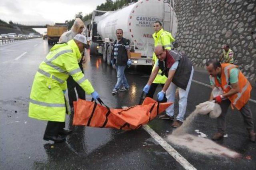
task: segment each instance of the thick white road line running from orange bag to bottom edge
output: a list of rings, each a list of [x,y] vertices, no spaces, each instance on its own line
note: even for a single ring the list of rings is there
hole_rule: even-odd
[[[152,130],[148,125],[144,125],[143,129],[150,134],[156,142],[158,142],[181,166],[186,170],[196,170],[196,168],[191,165],[179,152],[177,152],[172,146],[170,146],[161,136],[159,136],[154,130]]]

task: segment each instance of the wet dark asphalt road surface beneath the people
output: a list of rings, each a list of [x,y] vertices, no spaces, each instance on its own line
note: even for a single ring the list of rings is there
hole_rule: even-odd
[[[52,46],[41,38],[24,40],[0,46],[0,169],[1,170],[78,170],[78,169],[184,169],[143,128],[121,131],[106,128],[72,126],[67,116],[66,127],[74,130],[61,144],[42,139],[46,123],[28,118],[28,99],[34,74]],[[130,83],[128,92],[112,96],[116,72],[100,56],[91,56],[84,65],[85,76],[91,81],[100,98],[112,108],[138,104],[142,88],[146,84],[148,67],[131,67],[126,70]],[[203,70],[194,73],[194,80],[208,84]],[[158,89],[160,90],[160,89]],[[188,97],[186,116],[195,106],[208,100],[210,88],[192,82]],[[256,89],[252,91],[256,100]],[[86,96],[90,99],[90,96]],[[256,103],[250,102],[256,123]],[[177,105],[175,106],[177,114]],[[209,156],[173,145],[192,166],[198,170],[208,169],[256,169],[256,144],[249,142],[239,112],[229,110],[226,116],[228,137],[218,141],[242,155],[234,159],[225,156]],[[152,120],[148,125],[162,138],[172,132],[172,122]],[[256,127],[254,125],[254,127]],[[216,131],[216,120],[198,116],[190,128],[190,134],[200,130],[210,138]],[[246,158],[251,156],[251,159]]]

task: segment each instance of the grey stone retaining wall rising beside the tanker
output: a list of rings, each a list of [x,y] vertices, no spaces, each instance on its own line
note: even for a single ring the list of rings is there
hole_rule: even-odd
[[[176,42],[194,66],[219,58],[222,45],[249,80],[256,79],[256,0],[176,0]]]

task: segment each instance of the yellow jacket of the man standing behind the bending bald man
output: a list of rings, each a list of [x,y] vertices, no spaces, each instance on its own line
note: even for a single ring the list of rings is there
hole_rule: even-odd
[[[155,47],[158,45],[163,45],[166,50],[170,50],[172,48],[172,42],[175,41],[175,39],[172,37],[172,34],[163,29],[161,29],[157,33],[155,32],[152,36],[154,38]],[[156,60],[157,60],[155,53],[153,53],[152,60],[154,60],[154,63],[155,63],[152,69],[153,71],[154,68],[156,68]],[[165,75],[161,76],[161,74],[162,74],[162,71],[159,70],[158,75],[156,76],[153,83],[164,84],[166,82],[167,77]]]

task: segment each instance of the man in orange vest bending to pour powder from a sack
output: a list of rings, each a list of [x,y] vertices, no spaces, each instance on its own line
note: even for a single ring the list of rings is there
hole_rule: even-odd
[[[249,133],[250,141],[255,142],[254,124],[252,121],[252,111],[248,104],[252,86],[244,74],[234,64],[220,64],[218,60],[208,60],[206,70],[210,74],[210,83],[214,87],[223,90],[223,94],[213,97],[222,109],[222,113],[217,118],[218,132],[214,134],[212,140],[219,140],[224,137],[226,130],[225,116],[230,104],[240,111],[244,118],[246,129]]]

